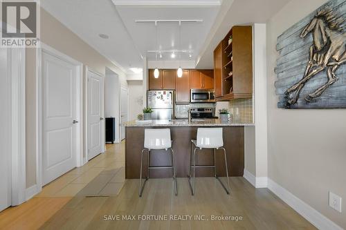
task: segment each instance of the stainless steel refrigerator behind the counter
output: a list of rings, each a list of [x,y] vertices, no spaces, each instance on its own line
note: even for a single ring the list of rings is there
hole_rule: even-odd
[[[152,119],[173,119],[174,90],[148,90],[147,106],[153,110]]]

